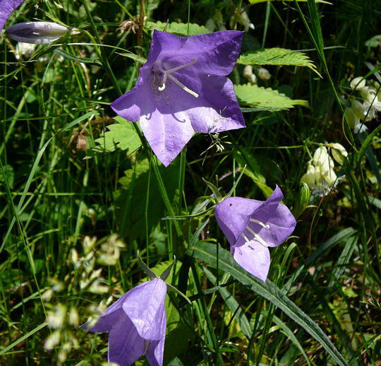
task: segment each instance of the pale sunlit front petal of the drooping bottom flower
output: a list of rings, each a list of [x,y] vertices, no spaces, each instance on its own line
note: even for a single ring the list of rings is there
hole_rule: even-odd
[[[162,319],[167,285],[160,278],[142,283],[128,291],[123,310],[135,325],[139,335],[147,341],[162,338]]]

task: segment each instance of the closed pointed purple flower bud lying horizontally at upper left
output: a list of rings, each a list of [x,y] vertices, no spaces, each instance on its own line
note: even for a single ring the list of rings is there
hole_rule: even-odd
[[[52,22],[24,22],[6,28],[6,35],[18,42],[47,44],[58,40],[70,31],[63,25]],[[75,30],[74,30],[75,31]]]

